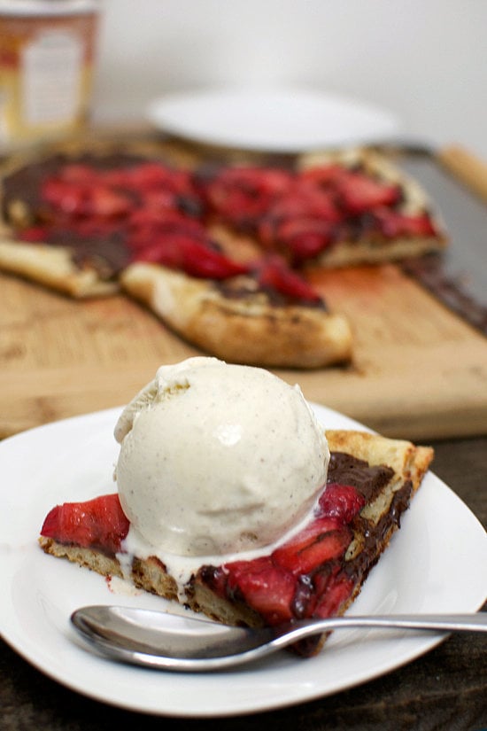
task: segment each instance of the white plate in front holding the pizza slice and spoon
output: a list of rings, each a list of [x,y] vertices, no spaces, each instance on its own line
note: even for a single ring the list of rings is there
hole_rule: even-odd
[[[356,422],[314,407],[322,424]],[[77,639],[71,612],[82,604],[167,608],[164,600],[124,591],[96,573],[46,556],[36,539],[58,502],[112,492],[118,409],[68,419],[0,443],[0,631],[30,663],[86,696],[181,717],[226,716],[298,704],[357,685],[403,665],[441,638],[356,630],[332,635],[303,660],[283,652],[226,673],[180,674],[118,665]],[[487,536],[460,499],[429,473],[354,613],[470,611],[485,599]]]

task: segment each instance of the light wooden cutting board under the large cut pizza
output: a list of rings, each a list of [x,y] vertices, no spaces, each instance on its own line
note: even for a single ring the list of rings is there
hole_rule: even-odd
[[[313,280],[352,321],[353,363],[281,377],[386,435],[487,433],[487,338],[394,265]],[[195,354],[125,297],[75,302],[0,275],[0,437],[120,406],[159,365]]]

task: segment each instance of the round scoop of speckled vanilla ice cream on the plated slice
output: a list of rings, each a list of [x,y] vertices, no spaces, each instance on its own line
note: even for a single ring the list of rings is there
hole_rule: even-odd
[[[122,508],[144,540],[178,556],[279,540],[313,509],[329,464],[298,386],[216,358],[159,368],[115,438]]]

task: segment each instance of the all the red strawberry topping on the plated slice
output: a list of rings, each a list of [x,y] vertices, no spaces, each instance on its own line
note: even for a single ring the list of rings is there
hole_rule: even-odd
[[[354,579],[344,571],[344,556],[352,540],[347,524],[363,502],[354,487],[329,483],[317,517],[294,538],[268,556],[203,566],[199,576],[216,594],[246,603],[268,625],[336,614],[354,587]],[[113,555],[120,551],[128,528],[118,494],[108,494],[51,509],[41,533],[66,545]],[[300,648],[303,653],[312,649]]]

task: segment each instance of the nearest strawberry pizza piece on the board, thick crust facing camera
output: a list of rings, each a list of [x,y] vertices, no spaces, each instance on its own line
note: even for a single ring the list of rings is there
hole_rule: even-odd
[[[182,338],[224,361],[315,369],[352,358],[348,319],[277,256],[219,279],[140,262],[120,283]]]

